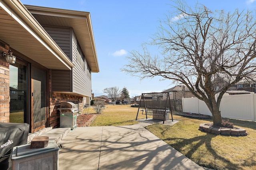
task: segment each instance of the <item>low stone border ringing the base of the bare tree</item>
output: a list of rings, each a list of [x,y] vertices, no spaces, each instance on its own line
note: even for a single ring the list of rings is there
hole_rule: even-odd
[[[227,127],[211,127],[210,123],[201,123],[199,125],[199,130],[207,133],[212,133],[216,135],[224,135],[224,136],[247,136],[246,130],[234,127],[234,128],[227,128]]]

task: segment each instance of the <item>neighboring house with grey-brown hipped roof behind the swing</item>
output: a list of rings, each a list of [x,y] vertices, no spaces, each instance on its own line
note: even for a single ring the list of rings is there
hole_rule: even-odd
[[[184,85],[177,85],[170,89],[164,90],[161,93],[169,93],[170,99],[181,100],[182,98],[195,97]],[[166,100],[166,95],[163,94],[163,100]]]

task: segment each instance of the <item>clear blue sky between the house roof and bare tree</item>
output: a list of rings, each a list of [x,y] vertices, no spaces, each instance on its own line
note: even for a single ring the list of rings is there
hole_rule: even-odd
[[[156,33],[159,21],[171,10],[170,0],[21,0],[23,4],[90,12],[100,72],[92,73],[92,92],[102,95],[104,88],[124,87],[130,97],[141,93],[161,92],[172,88],[170,80],[161,77],[139,80],[120,71],[126,56],[140,50]],[[210,10],[234,11],[256,9],[256,0],[187,0]],[[157,53],[157,49],[149,49]]]

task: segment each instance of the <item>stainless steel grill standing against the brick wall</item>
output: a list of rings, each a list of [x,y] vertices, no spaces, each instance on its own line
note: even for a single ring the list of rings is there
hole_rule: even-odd
[[[72,102],[61,102],[58,110],[60,111],[60,127],[75,129],[78,107]]]

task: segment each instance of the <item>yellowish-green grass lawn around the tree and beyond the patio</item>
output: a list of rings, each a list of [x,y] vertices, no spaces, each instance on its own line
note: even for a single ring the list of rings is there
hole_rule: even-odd
[[[129,105],[110,105],[97,115],[91,126],[132,125],[136,123],[137,111],[138,108]],[[140,112],[138,119],[141,118],[146,116]],[[198,130],[200,123],[212,120],[178,115],[173,118],[180,121],[172,126],[154,124],[146,129],[200,166],[216,170],[256,169],[256,122],[229,119],[236,127],[246,129],[248,136],[226,137]]]

